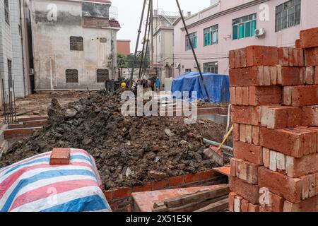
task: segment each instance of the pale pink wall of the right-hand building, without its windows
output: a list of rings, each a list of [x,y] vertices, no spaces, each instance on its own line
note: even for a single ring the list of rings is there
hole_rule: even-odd
[[[200,13],[187,18],[186,23],[189,25],[189,33],[197,32],[198,47],[195,49],[201,68],[203,64],[211,61],[218,61],[218,73],[228,74],[228,52],[232,49],[238,49],[249,45],[269,45],[278,47],[294,47],[295,40],[299,38],[300,30],[314,28],[318,26],[318,1],[302,0],[300,25],[287,28],[279,32],[275,32],[275,10],[276,6],[283,4],[287,0],[270,0],[261,1],[254,0],[254,5],[246,6],[246,8],[233,8],[242,6],[242,4],[252,3],[252,0],[229,1],[222,0],[220,4],[206,8]],[[261,10],[260,4],[269,6],[269,21],[261,21],[259,15]],[[216,18],[207,19],[216,13],[233,10],[224,13]],[[265,37],[247,37],[240,40],[232,40],[232,19],[257,13],[257,28],[265,28]],[[204,23],[199,23],[204,20]],[[218,24],[218,44],[204,47],[204,28]],[[175,75],[184,73],[185,69],[194,69],[194,59],[191,50],[185,51],[185,32],[182,30],[182,21],[175,25],[175,63],[181,64],[181,70],[175,69]]]

